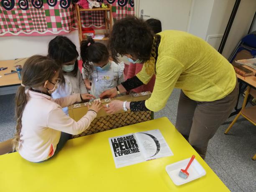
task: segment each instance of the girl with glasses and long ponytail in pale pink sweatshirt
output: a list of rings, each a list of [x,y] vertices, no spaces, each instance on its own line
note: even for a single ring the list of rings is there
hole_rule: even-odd
[[[57,154],[70,134],[83,132],[94,120],[100,107],[96,101],[79,121],[67,116],[62,107],[93,98],[74,94],[52,99],[60,82],[60,66],[45,56],[32,56],[22,70],[22,83],[15,98],[17,117],[13,148],[30,162],[43,162]]]

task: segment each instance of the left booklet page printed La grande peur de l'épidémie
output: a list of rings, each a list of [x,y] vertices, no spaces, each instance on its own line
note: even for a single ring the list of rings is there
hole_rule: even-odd
[[[144,156],[134,134],[109,138],[116,168],[144,162]]]

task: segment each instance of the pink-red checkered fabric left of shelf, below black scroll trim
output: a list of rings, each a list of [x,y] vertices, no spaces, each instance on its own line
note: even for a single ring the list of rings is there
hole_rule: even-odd
[[[16,3],[12,10],[0,6],[0,36],[10,35],[52,35],[75,30],[74,5],[61,8],[60,2],[52,7],[43,3],[41,8],[29,6],[22,10]]]

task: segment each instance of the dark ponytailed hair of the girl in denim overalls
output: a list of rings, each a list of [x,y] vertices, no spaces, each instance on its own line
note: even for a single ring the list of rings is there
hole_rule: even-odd
[[[109,60],[109,51],[106,45],[98,42],[95,43],[91,37],[81,42],[80,50],[83,67],[88,73],[90,69],[92,70],[90,62],[100,63],[101,61]]]

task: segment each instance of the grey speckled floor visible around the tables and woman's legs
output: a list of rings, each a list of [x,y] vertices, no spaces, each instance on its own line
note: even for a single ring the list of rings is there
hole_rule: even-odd
[[[175,89],[165,108],[155,113],[155,118],[167,116],[175,125],[179,95],[180,90]],[[13,136],[14,98],[14,94],[0,96],[0,141]],[[256,127],[239,118],[225,135],[234,117],[229,118],[209,141],[205,161],[232,192],[256,192],[256,161],[251,159],[256,153]]]

